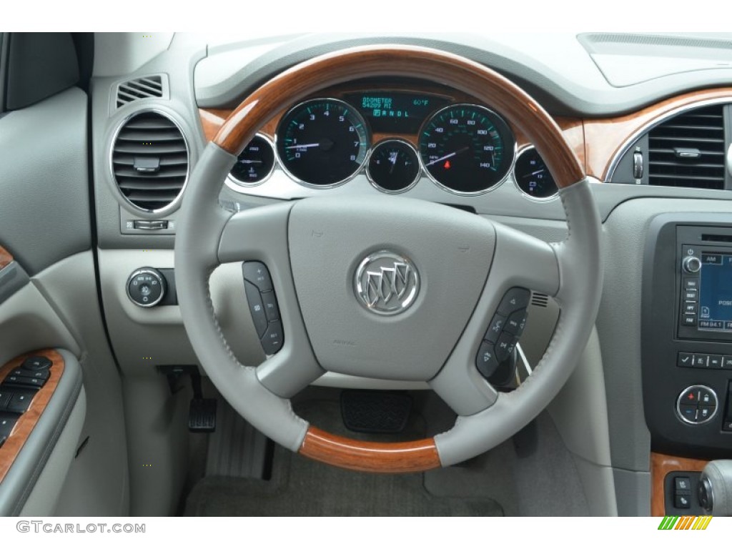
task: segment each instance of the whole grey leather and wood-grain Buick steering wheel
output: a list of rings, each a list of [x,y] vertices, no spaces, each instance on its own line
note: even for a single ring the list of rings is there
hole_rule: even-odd
[[[327,86],[375,76],[438,79],[507,116],[534,143],[560,188],[567,240],[547,244],[449,206],[393,196],[305,198],[236,214],[219,206],[221,184],[236,155],[272,116]],[[495,447],[559,392],[597,315],[600,233],[577,157],[553,119],[515,84],[441,51],[402,45],[353,48],[272,78],[231,113],[206,146],[182,203],[176,284],[184,325],[203,369],[254,427],[294,452],[335,466],[425,471]],[[280,306],[283,347],[258,367],[242,365],[231,352],[209,296],[212,270],[234,261],[268,266]],[[364,279],[356,280],[356,272],[361,267],[362,274],[364,265],[377,270],[359,289]],[[392,270],[376,276],[384,268]],[[384,280],[400,294],[397,314],[376,314],[378,307],[368,304],[388,296],[389,288],[378,294]],[[561,314],[534,373],[513,392],[498,393],[479,374],[476,356],[512,288],[553,296]],[[364,291],[366,298],[359,302]],[[445,433],[411,442],[334,436],[296,416],[288,400],[326,371],[426,381],[458,419]]]

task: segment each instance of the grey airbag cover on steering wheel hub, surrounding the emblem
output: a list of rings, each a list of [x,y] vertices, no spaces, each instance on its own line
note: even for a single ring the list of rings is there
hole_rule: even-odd
[[[290,259],[318,362],[350,376],[436,376],[473,313],[495,239],[488,220],[410,198],[296,203]],[[408,258],[419,272],[416,301],[403,313],[376,315],[358,302],[354,273],[378,250]]]

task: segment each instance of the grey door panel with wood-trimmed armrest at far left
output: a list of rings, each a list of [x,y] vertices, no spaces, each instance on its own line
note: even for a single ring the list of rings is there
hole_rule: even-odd
[[[72,43],[66,39],[2,35],[0,89],[28,89],[13,78],[44,66],[39,56],[56,59],[59,52],[48,45]],[[8,44],[28,51],[8,54]],[[70,52],[64,63],[73,68],[73,46]],[[75,76],[63,81],[60,66],[34,75],[31,88],[45,90],[34,104],[2,113],[21,105],[11,105],[10,95],[0,101],[0,367],[40,348],[59,351],[66,363],[48,406],[37,406],[40,389],[7,447],[0,447],[0,463],[20,447],[0,479],[0,515],[127,515],[122,384],[105,333],[92,251],[89,100],[73,86],[78,72],[70,70]],[[55,83],[40,81],[47,75]],[[26,414],[37,416],[30,430]],[[25,441],[21,420],[29,430]]]

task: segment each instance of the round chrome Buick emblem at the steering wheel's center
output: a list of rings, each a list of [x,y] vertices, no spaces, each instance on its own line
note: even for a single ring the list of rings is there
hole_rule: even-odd
[[[361,305],[379,315],[396,315],[414,303],[419,275],[407,258],[382,250],[359,264],[354,285]]]

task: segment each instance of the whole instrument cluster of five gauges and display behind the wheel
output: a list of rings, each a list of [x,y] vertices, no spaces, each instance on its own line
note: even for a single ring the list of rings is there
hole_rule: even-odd
[[[422,176],[449,193],[479,195],[507,179],[531,198],[556,194],[541,157],[484,105],[446,94],[353,90],[314,97],[259,133],[230,173],[236,186],[266,181],[275,166],[305,187],[326,189],[365,173],[383,193],[404,193]]]

